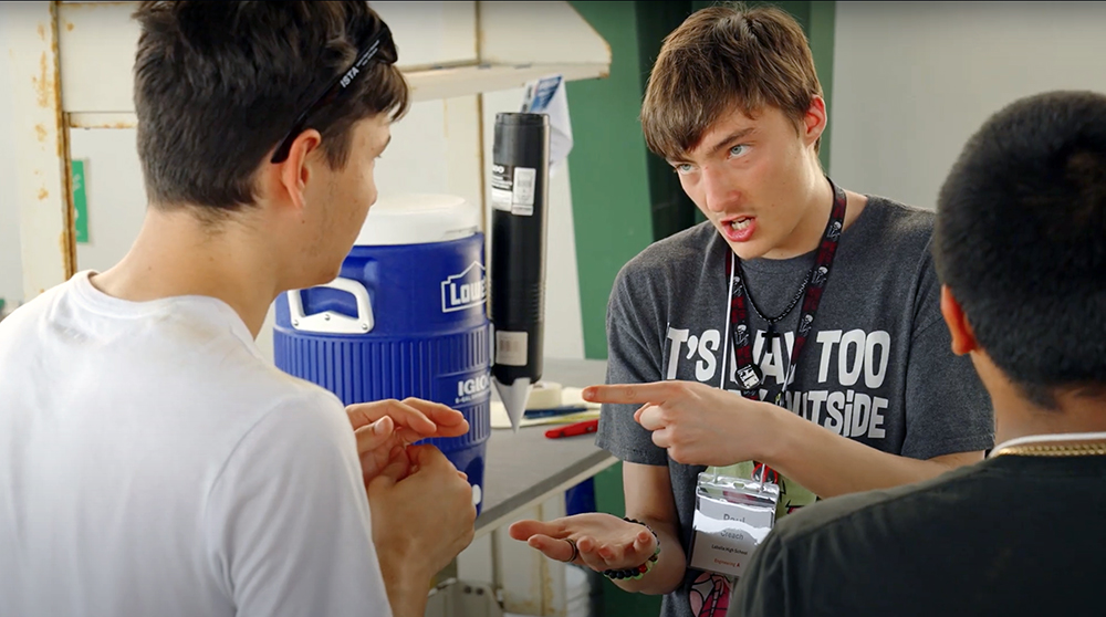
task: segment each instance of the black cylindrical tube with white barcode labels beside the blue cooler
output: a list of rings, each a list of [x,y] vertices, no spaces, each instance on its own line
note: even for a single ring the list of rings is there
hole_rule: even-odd
[[[495,115],[489,292],[492,377],[502,386],[542,376],[549,166],[549,116]]]

